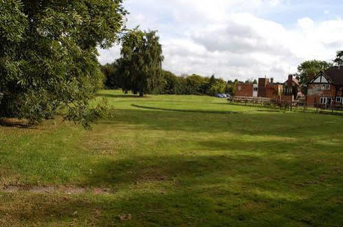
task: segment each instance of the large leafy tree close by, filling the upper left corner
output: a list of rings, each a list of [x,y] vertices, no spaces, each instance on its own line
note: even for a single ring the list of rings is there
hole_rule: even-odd
[[[38,123],[67,110],[85,128],[102,108],[97,47],[118,40],[122,0],[0,0],[0,117]]]

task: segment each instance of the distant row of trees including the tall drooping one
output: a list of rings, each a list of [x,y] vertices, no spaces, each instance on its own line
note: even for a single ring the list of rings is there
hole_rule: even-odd
[[[107,88],[122,88],[143,96],[146,93],[212,95],[234,91],[222,79],[200,75],[176,76],[162,69],[162,45],[156,31],[135,29],[122,38],[121,57],[102,67]]]

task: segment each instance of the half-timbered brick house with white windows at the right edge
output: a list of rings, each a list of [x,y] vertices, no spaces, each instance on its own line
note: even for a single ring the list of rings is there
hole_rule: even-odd
[[[331,67],[320,71],[307,84],[307,105],[342,105],[343,100],[343,68]]]

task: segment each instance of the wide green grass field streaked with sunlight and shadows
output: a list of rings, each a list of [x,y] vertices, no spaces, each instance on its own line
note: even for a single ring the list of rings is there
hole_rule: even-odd
[[[343,226],[342,116],[99,96],[91,131],[0,126],[0,226]]]

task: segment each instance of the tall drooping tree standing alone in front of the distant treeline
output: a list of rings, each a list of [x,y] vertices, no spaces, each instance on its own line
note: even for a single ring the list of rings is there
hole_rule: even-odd
[[[153,93],[162,81],[162,45],[157,31],[133,30],[123,38],[120,71],[133,93]],[[129,83],[127,83],[129,82]]]

